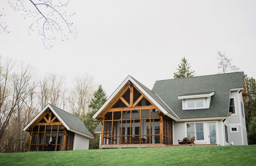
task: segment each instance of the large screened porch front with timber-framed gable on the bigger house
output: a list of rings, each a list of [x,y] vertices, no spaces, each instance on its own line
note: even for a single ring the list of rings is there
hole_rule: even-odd
[[[173,144],[173,120],[130,81],[96,119],[102,124],[101,145],[132,144],[135,137],[139,138],[136,142],[139,144]]]

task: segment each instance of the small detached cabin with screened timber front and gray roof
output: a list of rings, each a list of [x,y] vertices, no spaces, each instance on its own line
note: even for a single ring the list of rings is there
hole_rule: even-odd
[[[29,151],[47,151],[50,138],[54,151],[84,150],[89,148],[89,138],[93,138],[79,117],[51,104],[23,130],[30,133]]]

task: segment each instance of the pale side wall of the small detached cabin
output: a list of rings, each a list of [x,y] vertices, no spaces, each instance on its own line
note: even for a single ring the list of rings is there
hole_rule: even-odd
[[[74,150],[86,149],[89,149],[89,138],[76,133],[74,138]]]

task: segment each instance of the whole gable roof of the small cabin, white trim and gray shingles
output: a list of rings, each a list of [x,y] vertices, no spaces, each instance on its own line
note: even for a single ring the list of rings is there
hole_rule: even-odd
[[[63,124],[64,127],[68,129],[68,131],[72,131],[75,133],[78,133],[80,135],[94,138],[91,132],[88,131],[88,129],[85,127],[84,123],[81,121],[79,117],[76,117],[73,114],[70,114],[58,107],[55,107],[52,104],[47,104],[44,109],[42,109],[34,119],[29,122],[29,124],[24,127],[24,131],[47,109],[51,109],[53,114],[60,120],[60,122]]]

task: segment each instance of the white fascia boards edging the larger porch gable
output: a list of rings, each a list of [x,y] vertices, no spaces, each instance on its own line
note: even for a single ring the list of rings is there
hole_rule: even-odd
[[[150,96],[140,85],[132,79],[131,76],[128,76],[124,82],[116,89],[116,91],[108,98],[108,100],[100,107],[100,109],[92,116],[93,118],[96,118],[100,112],[107,106],[107,104],[116,96],[116,94],[124,87],[127,81],[131,81],[133,85],[135,85],[143,94],[145,94],[150,101],[152,101],[157,108],[159,108],[165,115],[168,115],[169,117],[173,118],[174,120],[178,120],[177,117],[174,117],[173,115],[169,114],[156,100]],[[172,111],[172,110],[171,110]]]

